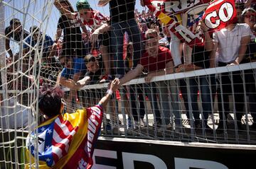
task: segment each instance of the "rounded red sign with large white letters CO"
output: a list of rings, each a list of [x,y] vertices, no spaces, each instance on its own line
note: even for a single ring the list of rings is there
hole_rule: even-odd
[[[217,9],[217,10],[216,10]],[[230,2],[223,4],[211,4],[204,14],[204,22],[208,28],[218,28],[220,25],[226,25],[231,18],[236,15],[235,8]]]

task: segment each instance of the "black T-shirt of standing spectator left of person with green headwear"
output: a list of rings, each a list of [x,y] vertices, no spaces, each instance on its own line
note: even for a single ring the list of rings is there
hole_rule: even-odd
[[[60,16],[57,28],[63,29],[63,55],[84,57],[80,23],[65,15]]]

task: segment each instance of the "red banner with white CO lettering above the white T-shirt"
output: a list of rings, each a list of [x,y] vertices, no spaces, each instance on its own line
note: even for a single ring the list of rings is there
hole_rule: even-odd
[[[203,21],[212,30],[221,30],[230,23],[235,23],[237,21],[235,0],[214,0],[210,2],[203,14]]]

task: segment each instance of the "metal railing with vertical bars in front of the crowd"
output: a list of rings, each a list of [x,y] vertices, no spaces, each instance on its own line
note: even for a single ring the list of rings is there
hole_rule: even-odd
[[[156,76],[151,83],[143,77],[134,79],[110,101],[102,136],[256,144],[255,66]],[[82,88],[80,106],[96,104],[106,87],[107,83]]]

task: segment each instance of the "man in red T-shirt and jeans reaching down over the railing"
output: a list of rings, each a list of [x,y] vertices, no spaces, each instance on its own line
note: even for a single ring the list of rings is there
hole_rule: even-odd
[[[153,78],[154,76],[171,74],[174,72],[174,62],[171,58],[171,52],[166,47],[159,46],[159,35],[156,30],[149,29],[146,31],[145,48],[146,52],[143,54],[137,67],[125,74],[124,77],[121,78],[120,84],[124,84],[127,81],[136,78],[137,76],[142,74],[143,69],[146,69],[146,71],[148,71],[148,75],[145,77],[146,83],[150,83],[151,78]],[[174,81],[171,82],[170,87],[172,107],[174,109],[173,113],[175,115],[176,122],[176,131],[179,132],[181,131],[181,114],[178,112],[178,91],[174,91],[176,89],[176,84]],[[145,84],[145,88],[147,91],[146,93],[149,93],[151,107],[154,109],[155,126],[161,127],[161,125],[163,125],[164,128],[171,127],[171,109],[169,107],[168,100],[168,86],[164,81],[161,81],[157,82],[156,85],[153,84],[152,92],[149,90],[149,84]],[[159,90],[159,92],[157,90]],[[159,96],[164,112],[163,116],[161,116],[157,105],[156,94],[158,93],[160,93]]]

